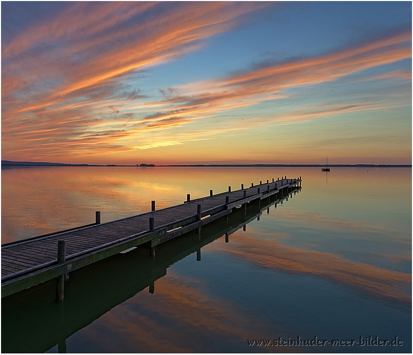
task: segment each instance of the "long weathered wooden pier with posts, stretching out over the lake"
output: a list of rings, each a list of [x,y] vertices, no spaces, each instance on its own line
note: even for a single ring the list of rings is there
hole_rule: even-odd
[[[69,273],[138,246],[147,247],[155,257],[159,244],[186,232],[197,230],[228,215],[233,208],[257,200],[270,199],[278,192],[301,186],[301,176],[286,177],[247,189],[229,191],[186,201],[177,206],[79,228],[50,233],[2,245],[2,298],[31,286],[57,279],[56,299],[63,300]],[[287,189],[287,190],[284,190]]]

